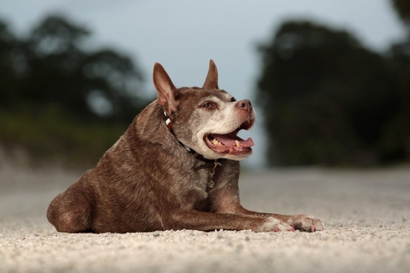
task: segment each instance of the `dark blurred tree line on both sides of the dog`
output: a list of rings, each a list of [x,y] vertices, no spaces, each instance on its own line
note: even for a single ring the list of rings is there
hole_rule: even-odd
[[[284,22],[259,46],[269,165],[410,160],[410,1],[391,3],[408,32],[387,52],[312,21]],[[45,17],[25,37],[0,19],[6,152],[92,165],[147,105],[137,64],[112,48],[87,49],[90,39],[64,16]]]

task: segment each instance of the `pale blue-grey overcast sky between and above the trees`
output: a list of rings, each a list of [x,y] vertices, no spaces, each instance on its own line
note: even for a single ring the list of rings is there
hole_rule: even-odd
[[[219,86],[237,99],[253,99],[259,59],[256,45],[270,40],[289,19],[310,19],[347,29],[377,51],[404,35],[390,0],[0,0],[0,18],[24,35],[46,14],[59,12],[88,27],[95,47],[128,53],[142,68],[154,94],[155,62],[175,86],[202,86],[213,59]],[[265,137],[259,121],[248,166],[264,165]]]

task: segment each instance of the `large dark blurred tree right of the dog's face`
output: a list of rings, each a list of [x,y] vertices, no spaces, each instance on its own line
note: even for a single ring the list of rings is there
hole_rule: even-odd
[[[397,120],[405,105],[386,57],[347,32],[310,22],[284,23],[259,52],[257,99],[270,139],[269,164],[405,158],[409,135],[400,130],[405,120]],[[392,127],[401,131],[394,145],[386,143]]]

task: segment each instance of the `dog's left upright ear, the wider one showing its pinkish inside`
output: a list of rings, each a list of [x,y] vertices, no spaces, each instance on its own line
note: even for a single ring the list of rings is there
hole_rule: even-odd
[[[176,111],[175,93],[177,89],[160,63],[154,65],[154,86],[158,92],[158,102],[169,116]]]

